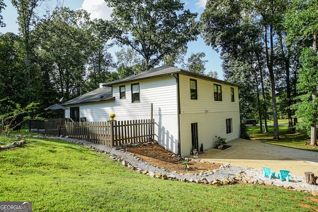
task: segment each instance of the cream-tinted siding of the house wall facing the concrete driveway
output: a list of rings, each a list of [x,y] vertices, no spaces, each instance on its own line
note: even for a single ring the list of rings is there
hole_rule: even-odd
[[[197,80],[198,99],[190,98],[190,78]],[[215,147],[215,136],[227,141],[239,138],[239,90],[222,83],[222,101],[214,100],[214,82],[180,75],[180,143],[181,155],[190,154],[192,148],[191,123],[198,123],[198,144],[203,148]],[[231,102],[231,87],[235,102]],[[232,133],[227,134],[226,119],[232,119]]]

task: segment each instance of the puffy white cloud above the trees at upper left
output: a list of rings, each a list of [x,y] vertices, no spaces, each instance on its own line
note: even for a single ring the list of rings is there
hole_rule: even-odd
[[[102,18],[110,20],[110,15],[113,11],[111,7],[107,6],[105,0],[84,0],[81,4],[82,9],[90,13],[90,18]]]

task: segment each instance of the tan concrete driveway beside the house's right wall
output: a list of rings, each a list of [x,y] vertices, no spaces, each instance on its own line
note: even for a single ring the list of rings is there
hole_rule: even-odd
[[[286,169],[300,176],[305,176],[305,171],[318,175],[318,152],[244,139],[228,141],[227,145],[231,147],[225,150],[210,148],[205,150],[206,154],[188,157],[257,169],[266,166],[273,171]]]

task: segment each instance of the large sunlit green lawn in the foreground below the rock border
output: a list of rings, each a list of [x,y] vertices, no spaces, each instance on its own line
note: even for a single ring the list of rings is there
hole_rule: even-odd
[[[318,199],[302,192],[164,181],[74,143],[26,141],[25,147],[0,151],[0,201],[32,201],[33,212],[307,212],[318,208]]]

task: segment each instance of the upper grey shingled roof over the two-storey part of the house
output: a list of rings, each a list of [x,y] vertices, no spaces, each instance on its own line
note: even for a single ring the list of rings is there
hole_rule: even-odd
[[[111,81],[111,82],[107,82],[107,83],[103,83],[102,86],[113,86],[116,84],[123,84],[123,83],[127,83],[127,82],[132,82],[132,81],[137,81],[137,80],[141,80],[141,79],[148,79],[148,78],[155,78],[158,76],[165,76],[165,75],[171,75],[173,73],[180,73],[180,74],[184,74],[184,75],[188,75],[188,76],[192,76],[192,77],[196,77],[196,78],[201,78],[201,79],[205,79],[205,80],[209,80],[209,81],[213,81],[213,82],[217,82],[217,83],[223,83],[223,84],[228,84],[231,86],[236,86],[236,87],[242,87],[241,85],[235,84],[235,83],[231,83],[231,82],[227,82],[227,81],[223,81],[220,79],[216,79],[216,78],[212,78],[209,76],[205,76],[205,75],[201,75],[201,74],[197,74],[197,73],[193,73],[190,71],[184,71],[175,67],[171,67],[171,66],[160,66],[158,68],[155,69],[151,69],[148,71],[143,71],[140,73],[137,73],[135,75],[130,75],[115,81]]]

